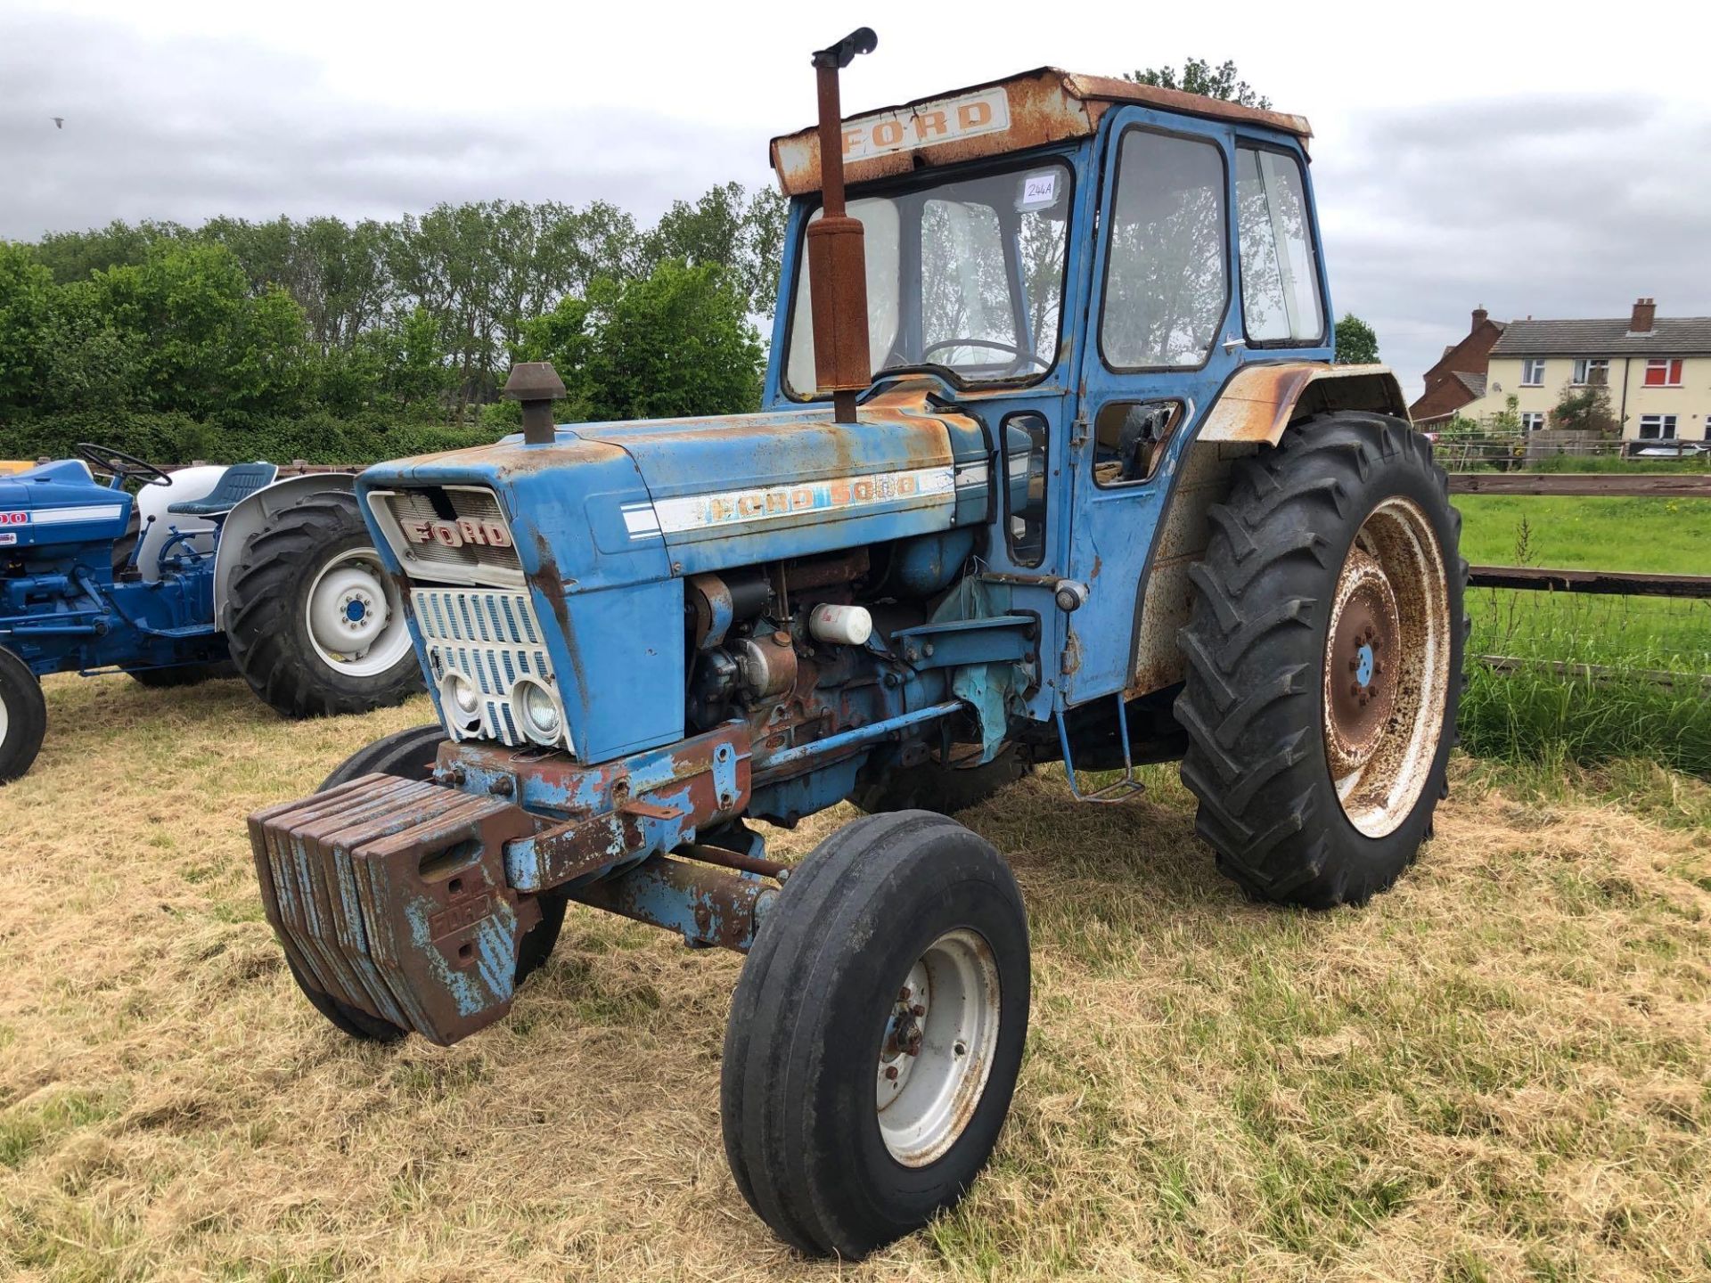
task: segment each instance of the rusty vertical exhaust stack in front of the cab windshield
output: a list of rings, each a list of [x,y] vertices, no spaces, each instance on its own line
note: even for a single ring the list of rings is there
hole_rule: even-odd
[[[809,310],[814,316],[814,383],[832,393],[832,419],[856,423],[856,393],[873,380],[867,352],[867,257],[861,219],[844,212],[844,109],[838,70],[873,53],[873,27],[814,53],[820,89],[821,217],[808,226]]]

